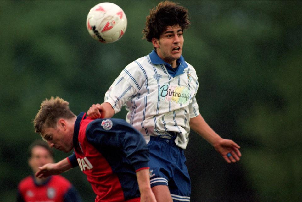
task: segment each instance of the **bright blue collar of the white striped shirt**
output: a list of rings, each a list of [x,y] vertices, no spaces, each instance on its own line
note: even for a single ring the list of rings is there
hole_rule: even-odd
[[[175,77],[178,76],[180,74],[183,74],[185,71],[184,69],[187,68],[187,63],[185,62],[185,59],[180,56],[180,58],[178,58],[176,60],[177,63],[177,67],[176,68],[172,68],[172,66],[169,63],[166,63],[165,61],[163,61],[156,53],[155,50],[153,50],[150,54],[149,57],[151,59],[151,62],[153,64],[164,64],[165,67],[168,70],[168,73],[170,74],[170,76]]]

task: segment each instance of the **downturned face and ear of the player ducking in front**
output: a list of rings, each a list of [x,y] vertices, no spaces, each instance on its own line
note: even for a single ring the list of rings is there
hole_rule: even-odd
[[[73,133],[66,129],[66,125],[60,123],[56,128],[45,128],[43,138],[47,141],[48,145],[57,150],[70,152],[73,148]]]

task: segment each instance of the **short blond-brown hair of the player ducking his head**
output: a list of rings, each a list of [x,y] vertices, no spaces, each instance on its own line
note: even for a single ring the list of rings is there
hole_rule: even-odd
[[[35,132],[43,136],[45,128],[56,128],[59,118],[70,119],[76,115],[69,109],[69,102],[59,97],[45,99],[33,121]]]

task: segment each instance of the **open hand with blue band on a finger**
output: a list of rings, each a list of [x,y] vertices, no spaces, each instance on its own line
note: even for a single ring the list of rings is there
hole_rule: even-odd
[[[221,139],[218,143],[214,144],[213,146],[215,150],[222,155],[226,162],[235,163],[240,160],[240,146],[237,145],[233,140]]]

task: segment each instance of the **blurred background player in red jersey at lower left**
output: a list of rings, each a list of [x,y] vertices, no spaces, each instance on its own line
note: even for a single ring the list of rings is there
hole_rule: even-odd
[[[36,140],[28,150],[28,164],[32,175],[24,178],[18,186],[17,201],[53,201],[77,202],[82,201],[80,195],[72,184],[62,176],[37,178],[34,176],[46,163],[53,163],[53,151],[43,140]]]

